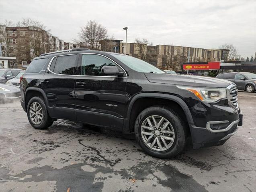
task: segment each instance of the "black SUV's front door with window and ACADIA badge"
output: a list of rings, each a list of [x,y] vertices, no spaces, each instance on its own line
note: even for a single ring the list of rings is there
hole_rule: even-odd
[[[125,115],[127,76],[105,76],[103,66],[117,66],[111,59],[99,54],[81,54],[79,58],[75,93],[77,120],[90,124],[122,128]]]

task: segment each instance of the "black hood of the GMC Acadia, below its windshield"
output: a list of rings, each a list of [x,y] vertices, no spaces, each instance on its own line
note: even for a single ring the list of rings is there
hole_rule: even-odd
[[[198,87],[220,87],[226,88],[232,82],[205,76],[191,76],[179,74],[156,74],[145,73],[147,79],[152,83],[164,83],[184,86],[198,86]]]

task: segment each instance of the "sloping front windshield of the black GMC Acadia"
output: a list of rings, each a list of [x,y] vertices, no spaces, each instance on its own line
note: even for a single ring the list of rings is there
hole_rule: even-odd
[[[127,55],[112,54],[115,58],[123,62],[129,68],[142,73],[165,73],[164,71],[158,69],[152,64],[149,64],[143,60],[137,59],[135,57]]]

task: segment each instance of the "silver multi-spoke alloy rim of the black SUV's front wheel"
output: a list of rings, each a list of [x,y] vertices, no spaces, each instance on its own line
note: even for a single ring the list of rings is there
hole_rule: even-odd
[[[143,142],[152,150],[168,150],[175,138],[174,128],[166,118],[152,115],[142,122],[141,136]]]

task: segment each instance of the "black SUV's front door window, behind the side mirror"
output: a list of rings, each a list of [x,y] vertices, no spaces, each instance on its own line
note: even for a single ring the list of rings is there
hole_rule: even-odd
[[[90,76],[102,76],[100,74],[101,68],[103,66],[116,66],[116,64],[100,55],[94,54],[84,54],[82,55],[81,67],[78,69],[78,74],[90,75]],[[121,69],[117,66],[119,71]]]

